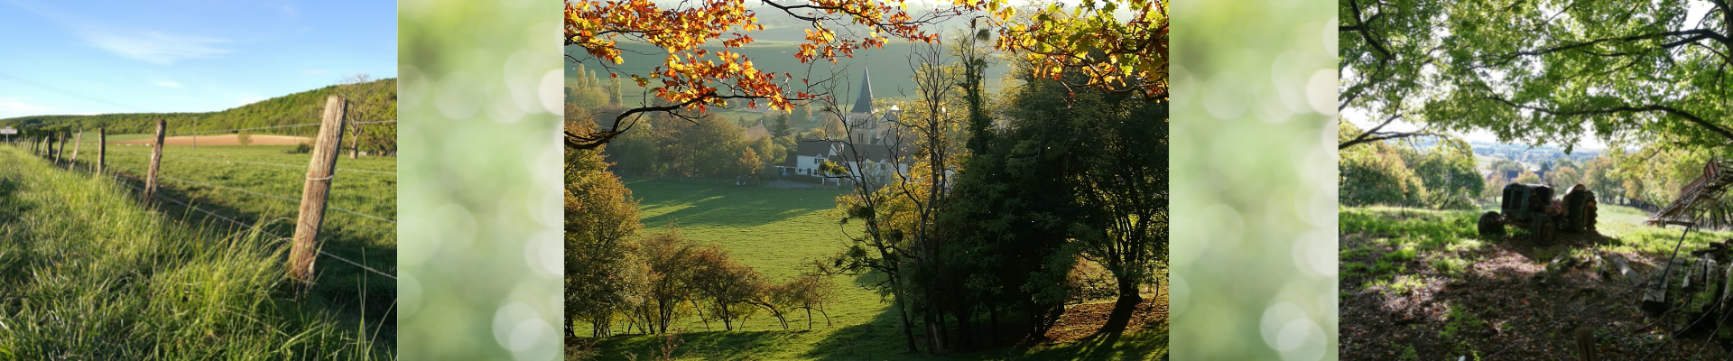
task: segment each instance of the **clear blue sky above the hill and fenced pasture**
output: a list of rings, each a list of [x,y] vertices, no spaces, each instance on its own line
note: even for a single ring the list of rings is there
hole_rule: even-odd
[[[222,111],[397,76],[397,2],[0,0],[0,118]]]

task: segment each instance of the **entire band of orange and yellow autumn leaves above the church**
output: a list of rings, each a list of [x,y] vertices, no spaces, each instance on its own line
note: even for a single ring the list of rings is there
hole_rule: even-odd
[[[981,28],[1000,30],[996,43],[1036,61],[1036,75],[1061,80],[1059,68],[1078,68],[1088,76],[1074,85],[1111,92],[1135,92],[1144,97],[1166,97],[1166,2],[1106,0],[1085,2],[1080,7],[1047,7],[1019,16],[1005,0],[958,0],[955,7],[920,16],[905,10],[905,0],[804,0],[763,2],[764,12],[799,19],[809,24],[806,42],[792,56],[801,62],[851,57],[858,49],[882,49],[892,38],[910,42],[936,42],[938,35],[924,30],[927,24],[969,12]],[[1126,10],[1130,17],[1116,17]],[[863,28],[858,31],[837,31]],[[972,26],[974,28],[974,26]],[[582,56],[567,56],[570,62],[586,59],[601,64],[610,76],[631,78],[655,97],[660,106],[631,108],[591,134],[567,134],[568,148],[594,148],[629,132],[646,111],[667,111],[676,116],[693,116],[711,106],[728,106],[731,101],[769,104],[789,111],[795,102],[830,97],[828,92],[809,92],[811,78],[802,76],[804,90],[792,90],[792,73],[761,71],[752,59],[733,52],[752,43],[752,31],[764,30],[757,9],[745,2],[704,0],[662,7],[652,0],[568,0],[565,3],[565,45],[579,47]],[[648,43],[667,54],[660,66],[646,73],[629,73],[613,68],[626,61],[620,42]],[[707,43],[719,50],[704,49]],[[827,83],[820,80],[818,83]],[[1133,85],[1135,83],[1135,85]],[[821,87],[820,87],[821,89]],[[834,102],[834,101],[832,101]]]

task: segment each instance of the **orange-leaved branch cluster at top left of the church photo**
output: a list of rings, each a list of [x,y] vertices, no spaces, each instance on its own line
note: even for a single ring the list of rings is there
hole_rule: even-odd
[[[934,42],[938,36],[922,30],[924,24],[962,14],[953,10],[908,14],[903,0],[808,0],[763,2],[764,12],[789,16],[811,24],[806,42],[792,56],[801,62],[849,57],[858,49],[880,49],[891,38]],[[868,30],[865,35],[851,26]],[[641,106],[605,120],[591,134],[567,134],[568,148],[594,148],[631,130],[634,115],[667,111],[678,116],[704,113],[712,106],[743,101],[749,106],[766,102],[771,109],[787,111],[797,101],[827,97],[792,90],[792,73],[761,71],[752,59],[733,52],[754,42],[752,31],[764,30],[757,9],[745,2],[704,0],[662,7],[650,0],[568,0],[565,2],[565,45],[579,47],[582,56],[567,56],[570,62],[594,59],[610,76],[631,78],[646,87],[665,106]],[[667,54],[660,66],[648,73],[627,73],[613,68],[626,61],[620,42],[648,43]],[[717,42],[719,50],[702,45]],[[809,80],[802,78],[802,83]]]

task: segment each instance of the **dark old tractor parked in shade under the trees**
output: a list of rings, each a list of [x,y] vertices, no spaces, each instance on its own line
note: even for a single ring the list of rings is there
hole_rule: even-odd
[[[1594,231],[1593,191],[1577,186],[1563,200],[1553,200],[1553,186],[1546,184],[1506,184],[1499,212],[1480,215],[1480,236],[1504,236],[1504,226],[1515,226],[1548,243],[1558,231]]]

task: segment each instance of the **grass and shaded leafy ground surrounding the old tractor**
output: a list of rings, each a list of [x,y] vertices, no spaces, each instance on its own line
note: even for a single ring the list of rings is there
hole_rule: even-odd
[[[1643,226],[1645,212],[1601,205],[1598,233],[1542,243],[1509,227],[1482,238],[1475,220],[1485,210],[1340,210],[1343,359],[1574,359],[1574,328],[1594,331],[1601,359],[1733,358],[1639,312],[1639,288],[1613,266],[1620,257],[1645,278],[1660,272],[1681,227]],[[1691,231],[1681,257],[1728,238]]]

